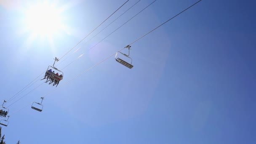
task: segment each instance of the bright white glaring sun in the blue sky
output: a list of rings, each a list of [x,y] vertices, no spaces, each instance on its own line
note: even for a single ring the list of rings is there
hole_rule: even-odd
[[[53,4],[37,3],[31,5],[25,11],[25,15],[26,29],[34,37],[50,38],[61,30],[65,30],[61,11]]]

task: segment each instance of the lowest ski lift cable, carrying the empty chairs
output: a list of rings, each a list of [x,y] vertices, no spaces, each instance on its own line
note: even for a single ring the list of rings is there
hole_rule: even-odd
[[[199,0],[197,1],[196,3],[194,3],[193,5],[189,6],[188,8],[186,8],[184,11],[187,11],[189,8],[191,8],[192,6],[196,5],[197,3],[199,3],[200,1],[202,0]],[[184,11],[181,11],[179,14],[183,13]],[[179,14],[177,14],[176,16],[179,16]],[[176,17],[174,16],[174,17]],[[171,19],[173,19],[174,17],[172,17]],[[171,19],[168,19],[168,21],[170,21]],[[168,21],[165,21],[163,24],[167,23]],[[161,27],[163,24],[160,24],[158,27],[156,27],[155,29]],[[155,29],[152,29],[151,31],[149,31],[146,35],[148,35],[149,33],[151,33],[152,31],[154,31]],[[142,37],[146,36],[146,35],[143,35]],[[131,44],[137,42],[138,40],[140,40],[142,37],[140,37],[139,39],[133,41]],[[127,48],[127,46],[125,47]],[[123,49],[125,48],[122,48],[120,51],[122,51]],[[101,64],[103,61],[106,61],[107,59],[109,59],[110,57],[114,56],[116,53],[110,55],[109,57],[107,57],[106,59],[100,61],[99,63],[95,64],[93,67],[96,67],[97,65]],[[77,75],[76,77],[79,77],[80,75],[84,74],[85,72],[88,72],[90,69],[92,69],[93,67],[90,67],[89,69],[85,70],[84,72],[82,72],[81,74]],[[72,78],[71,80],[74,80],[76,77]],[[68,82],[64,83],[63,85],[61,85],[59,88],[63,87],[64,85],[66,85],[67,83],[69,83],[71,80],[69,80]],[[53,91],[55,91],[56,89],[58,88],[55,88]],[[53,91],[50,91],[49,93],[46,93],[43,97],[47,96],[48,94],[52,93]],[[40,98],[41,99],[41,98]],[[37,99],[38,100],[38,99]],[[27,106],[25,107],[28,107],[29,105],[31,105],[32,103],[28,104]],[[21,109],[17,110],[16,112],[19,112],[20,110],[24,109],[25,107],[22,107]],[[11,113],[11,115],[13,115],[14,113],[16,112],[13,112]]]

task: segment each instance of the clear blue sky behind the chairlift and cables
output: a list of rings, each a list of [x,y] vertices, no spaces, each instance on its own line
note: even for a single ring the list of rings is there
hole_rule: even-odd
[[[77,48],[81,48],[73,53],[75,48],[58,68],[152,1],[141,0],[93,40],[80,43]],[[28,43],[29,33],[22,32],[22,10],[31,1],[1,0],[1,100],[9,99],[34,80],[53,64],[55,56],[61,57],[124,2],[59,0],[58,7],[67,7],[61,15],[70,31],[54,35],[52,45],[40,38]],[[130,0],[96,32],[136,2]],[[65,68],[59,86],[195,2],[157,0]],[[255,4],[203,0],[131,45],[133,69],[112,57],[46,96],[43,112],[26,107],[11,115],[8,127],[2,128],[6,143],[256,143]],[[38,81],[16,99],[41,83]],[[43,84],[13,104],[10,113],[53,89]]]

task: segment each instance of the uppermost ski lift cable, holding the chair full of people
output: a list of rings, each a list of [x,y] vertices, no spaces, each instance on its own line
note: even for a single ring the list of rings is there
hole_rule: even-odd
[[[123,3],[123,5],[125,5],[127,2],[128,2],[129,0],[127,0],[125,3]],[[114,12],[114,13],[116,13],[120,8],[122,8],[123,7],[123,5],[121,5],[119,8],[117,8],[117,10]],[[107,17],[107,19],[109,19],[114,13],[112,13],[109,17]],[[103,22],[101,22],[101,24],[103,24],[105,21],[107,21],[107,19],[105,19]],[[100,27],[101,26],[101,24],[99,24],[99,26],[98,27]],[[88,37],[92,32],[94,32],[98,27],[96,27],[95,29],[93,29],[93,31],[91,31],[86,37]],[[83,40],[85,40],[85,38],[86,37],[84,37],[82,40],[80,40],[80,42],[78,42],[73,48],[71,48],[67,53],[65,53],[60,59],[62,59],[64,56],[66,56],[70,51],[72,51],[72,49],[74,49],[79,43],[81,43]],[[59,60],[60,60],[59,59]],[[42,72],[42,74],[40,74],[38,77],[40,77],[41,75],[43,75],[45,73],[45,71],[44,72]],[[37,78],[38,78],[37,77]],[[29,84],[27,84],[24,88],[26,88],[28,85],[30,85],[31,83],[33,83],[37,78],[35,78],[34,80],[32,80]],[[22,88],[19,92],[21,92],[22,90],[24,90],[24,88]],[[19,93],[18,92],[18,93]],[[10,99],[12,99],[14,96],[16,96],[18,93],[16,93],[15,95],[13,95]],[[8,99],[8,101],[10,100],[10,99]],[[7,101],[7,102],[8,102]]]

